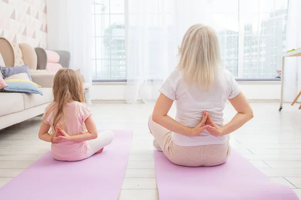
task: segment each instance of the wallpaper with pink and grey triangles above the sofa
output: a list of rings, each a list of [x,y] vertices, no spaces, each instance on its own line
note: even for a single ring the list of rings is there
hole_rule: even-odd
[[[0,0],[0,37],[46,48],[46,0]]]

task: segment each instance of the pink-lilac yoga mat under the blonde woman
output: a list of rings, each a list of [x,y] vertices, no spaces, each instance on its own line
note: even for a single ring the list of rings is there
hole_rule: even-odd
[[[297,200],[288,186],[270,180],[231,149],[228,161],[213,167],[185,167],[155,150],[160,200]]]

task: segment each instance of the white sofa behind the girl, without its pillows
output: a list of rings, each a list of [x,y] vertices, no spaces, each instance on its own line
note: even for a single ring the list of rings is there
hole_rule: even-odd
[[[43,114],[52,101],[53,74],[32,74],[32,79],[41,85],[43,95],[0,92],[0,129]]]

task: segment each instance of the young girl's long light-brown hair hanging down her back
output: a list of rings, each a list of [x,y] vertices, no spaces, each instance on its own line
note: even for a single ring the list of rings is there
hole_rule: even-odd
[[[45,118],[48,117],[50,113],[54,114],[52,124],[54,131],[58,123],[62,124],[65,122],[64,106],[70,101],[85,101],[83,81],[82,77],[76,71],[62,68],[54,76],[53,102],[49,105],[45,113]]]

